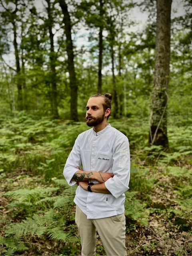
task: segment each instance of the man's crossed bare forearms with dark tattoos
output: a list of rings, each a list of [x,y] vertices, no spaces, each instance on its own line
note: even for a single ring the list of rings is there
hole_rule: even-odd
[[[72,177],[72,181],[76,181],[79,186],[87,190],[89,180],[97,180],[100,184],[94,184],[91,187],[92,192],[110,194],[110,191],[105,186],[105,182],[113,176],[114,174],[109,172],[85,172],[80,168]]]

